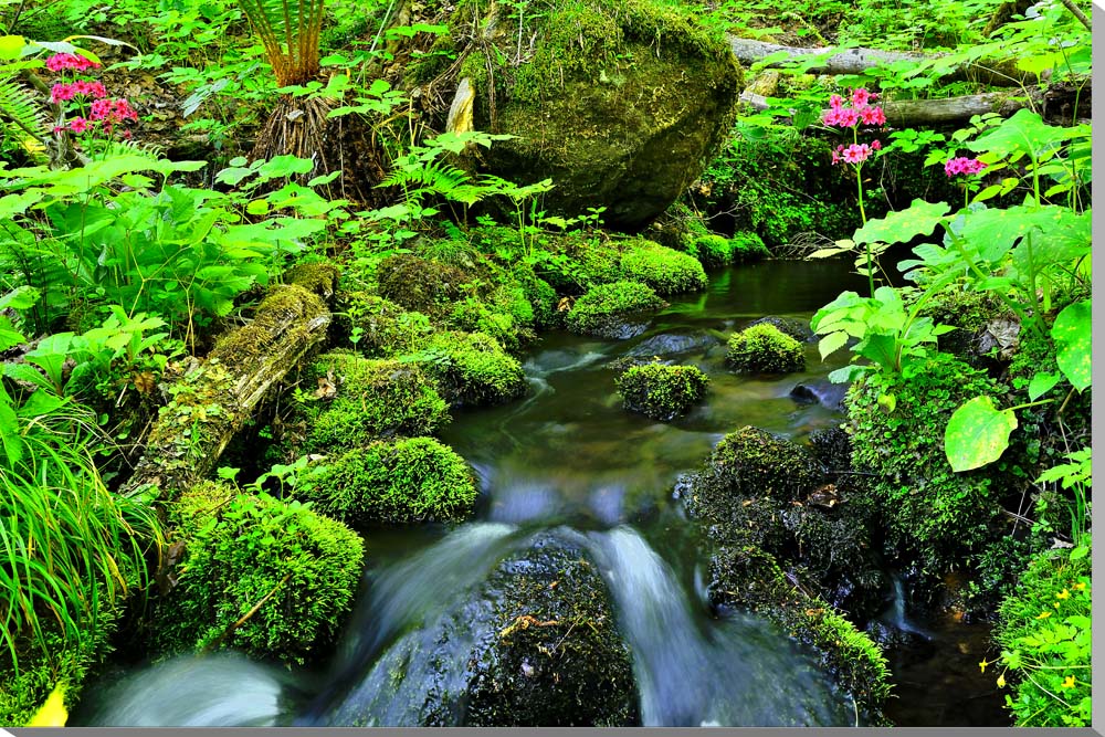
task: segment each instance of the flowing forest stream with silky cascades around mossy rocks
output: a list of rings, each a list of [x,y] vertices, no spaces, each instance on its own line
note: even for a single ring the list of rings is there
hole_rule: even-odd
[[[812,653],[762,619],[711,610],[694,524],[672,497],[678,475],[745,424],[801,440],[840,422],[831,407],[839,396],[825,376],[848,360],[845,351],[822,362],[815,343],[807,343],[807,370],[771,379],[736,376],[724,358],[732,331],[766,315],[808,323],[846,288],[863,291],[864,282],[844,262],[767,261],[715,272],[707,289],[672,298],[635,338],[543,336],[524,359],[530,388],[523,400],[455,412],[441,433],[476,471],[475,519],[451,530],[366,535],[370,568],[361,598],[322,672],[288,673],[232,653],[177,659],[110,686],[90,684],[74,720],[417,725],[425,692],[420,674],[430,673],[423,661],[438,659],[435,688],[463,691],[466,638],[476,636],[462,632],[443,652],[440,642],[430,641],[439,620],[451,609],[481,606],[470,601],[472,591],[495,566],[526,549],[535,535],[555,529],[598,564],[632,653],[645,726],[855,725],[862,715],[819,672]],[[625,356],[698,366],[709,376],[709,393],[670,423],[627,412],[614,391],[619,370],[612,366]],[[824,402],[792,398],[798,383],[812,387]],[[970,673],[985,654],[979,652],[985,632],[967,636],[954,623],[911,623],[902,597],[891,594],[890,623],[912,629],[924,643],[912,655],[892,653],[892,664],[917,680],[906,692],[946,706],[938,715],[914,698],[908,708],[895,708],[892,699],[891,717],[903,726],[1008,724],[997,698],[983,697],[992,691],[989,675],[979,681]],[[957,676],[950,681],[936,677],[951,671]],[[930,677],[934,691],[926,695]],[[965,714],[956,707],[964,698],[982,706]]]

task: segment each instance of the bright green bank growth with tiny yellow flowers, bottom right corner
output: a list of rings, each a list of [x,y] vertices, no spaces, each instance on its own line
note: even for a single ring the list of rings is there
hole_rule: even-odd
[[[1036,555],[1002,601],[994,640],[1004,667],[999,685],[1018,727],[1091,724],[1091,564],[1070,550]],[[1008,678],[1007,678],[1008,676]]]

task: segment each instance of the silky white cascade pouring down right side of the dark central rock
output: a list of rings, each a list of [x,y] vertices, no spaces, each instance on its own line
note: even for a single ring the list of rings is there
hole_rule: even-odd
[[[753,618],[699,622],[671,567],[635,530],[589,537],[633,652],[645,726],[850,723],[785,635]]]

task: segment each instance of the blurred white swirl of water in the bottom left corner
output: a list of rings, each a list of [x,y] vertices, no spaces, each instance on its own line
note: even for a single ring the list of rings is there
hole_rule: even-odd
[[[273,727],[291,710],[291,678],[233,653],[187,656],[136,671],[95,695],[74,724],[103,727]],[[99,693],[97,693],[99,692]]]

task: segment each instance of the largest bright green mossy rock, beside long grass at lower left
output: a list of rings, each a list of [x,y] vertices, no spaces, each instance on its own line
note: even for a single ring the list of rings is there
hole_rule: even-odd
[[[200,483],[172,505],[181,558],[151,631],[165,653],[231,646],[303,664],[333,642],[360,579],[364,546],[298,502]]]

